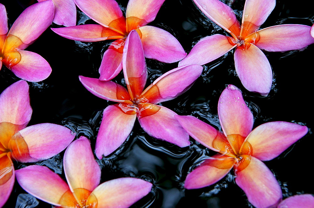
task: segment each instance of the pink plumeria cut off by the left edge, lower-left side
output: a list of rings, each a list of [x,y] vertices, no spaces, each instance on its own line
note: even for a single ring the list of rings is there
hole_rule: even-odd
[[[0,207],[14,185],[12,160],[33,163],[64,150],[74,139],[68,128],[50,123],[27,126],[32,115],[29,86],[21,80],[0,95]]]

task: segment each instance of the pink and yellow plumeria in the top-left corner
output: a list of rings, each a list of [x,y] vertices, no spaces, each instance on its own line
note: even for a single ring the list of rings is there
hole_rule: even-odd
[[[23,51],[52,23],[54,6],[51,0],[26,8],[8,31],[7,12],[0,4],[0,69],[2,63],[17,77],[39,82],[51,73],[49,63],[37,53]]]

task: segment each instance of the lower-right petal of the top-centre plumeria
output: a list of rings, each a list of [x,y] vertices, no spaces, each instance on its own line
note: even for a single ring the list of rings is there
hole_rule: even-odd
[[[179,41],[167,31],[153,26],[143,26],[139,30],[146,58],[173,63],[187,55]]]

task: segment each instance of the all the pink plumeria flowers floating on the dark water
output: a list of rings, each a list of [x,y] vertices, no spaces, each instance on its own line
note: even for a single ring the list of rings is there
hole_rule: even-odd
[[[198,8],[231,36],[201,39],[187,55],[174,36],[148,26],[165,0],[130,0],[123,16],[114,0],[44,0],[26,8],[8,30],[7,13],[0,4],[0,66],[23,79],[0,96],[0,207],[13,189],[15,176],[31,195],[61,207],[128,207],[147,195],[153,184],[138,178],[119,178],[100,184],[100,167],[89,140],[68,128],[44,123],[27,126],[32,114],[28,82],[46,79],[51,73],[40,55],[24,51],[52,22],[64,25],[52,30],[62,37],[95,42],[115,40],[103,55],[99,78],[80,76],[95,96],[117,104],[104,109],[95,155],[111,155],[126,140],[136,117],[148,135],[179,147],[190,145],[190,136],[216,155],[188,173],[184,187],[198,189],[215,184],[233,168],[236,184],[256,207],[306,207],[312,195],[282,200],[281,188],[262,161],[278,157],[302,138],[306,126],[284,121],[253,128],[253,115],[241,91],[233,86],[222,92],[218,115],[222,132],[196,117],[177,115],[158,103],[186,92],[201,75],[204,65],[235,49],[235,68],[243,86],[266,96],[272,85],[271,66],[260,50],[289,51],[314,43],[310,26],[284,24],[258,30],[275,7],[275,0],[246,0],[242,23],[233,10],[219,0],[193,0]],[[99,24],[76,24],[76,6]],[[146,58],[179,62],[145,88]],[[110,81],[123,69],[127,89]],[[26,80],[26,81],[24,81]],[[73,142],[72,142],[73,141]],[[72,142],[72,143],[71,143]],[[12,160],[22,163],[48,159],[65,148],[63,168],[68,184],[49,168],[30,165],[14,170]],[[123,200],[119,200],[123,198]]]

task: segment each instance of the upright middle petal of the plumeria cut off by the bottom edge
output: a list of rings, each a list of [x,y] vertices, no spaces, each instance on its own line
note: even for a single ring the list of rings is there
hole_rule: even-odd
[[[84,136],[69,145],[64,153],[63,167],[72,192],[78,188],[93,191],[100,183],[100,168],[89,140]]]

